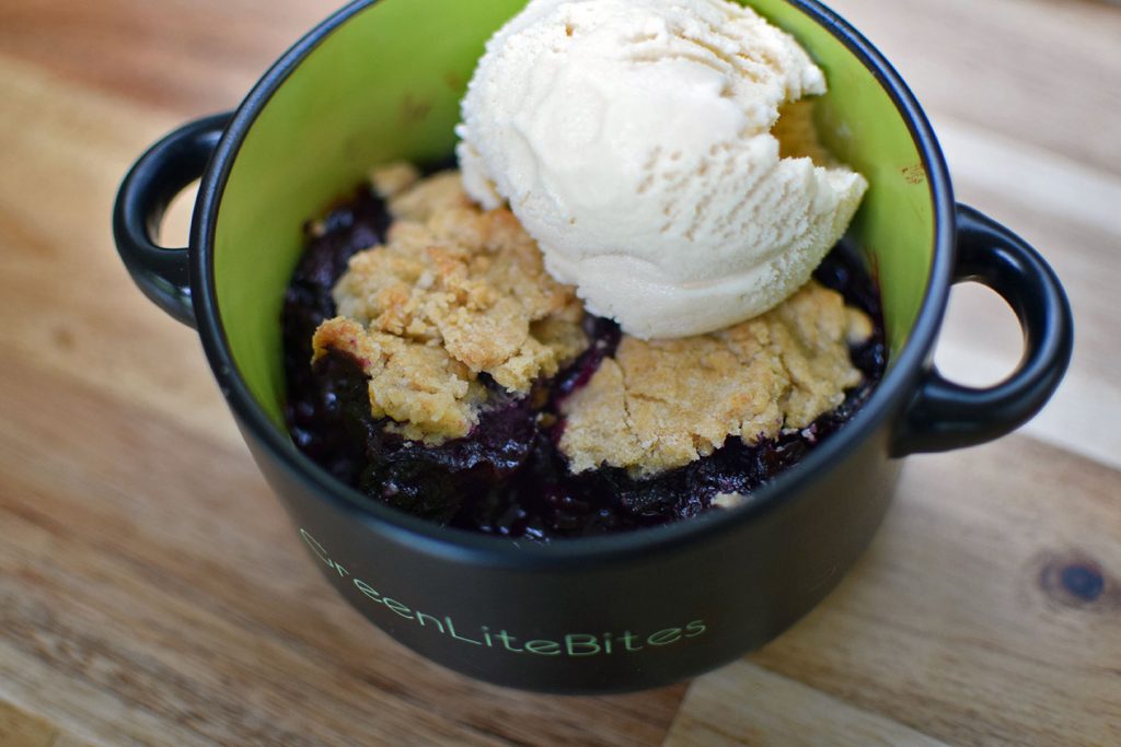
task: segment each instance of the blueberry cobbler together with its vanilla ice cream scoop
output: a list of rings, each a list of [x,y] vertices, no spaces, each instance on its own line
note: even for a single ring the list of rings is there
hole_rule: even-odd
[[[884,368],[873,284],[834,249],[869,184],[817,139],[826,91],[728,0],[530,0],[463,97],[458,170],[385,166],[309,226],[297,446],[508,538],[751,501]]]

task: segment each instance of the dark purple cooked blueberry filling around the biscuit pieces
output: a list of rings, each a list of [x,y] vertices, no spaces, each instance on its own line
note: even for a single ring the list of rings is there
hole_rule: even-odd
[[[562,402],[584,387],[620,343],[618,326],[587,316],[587,349],[526,396],[489,379],[479,423],[438,446],[409,441],[370,411],[368,379],[358,361],[330,352],[315,365],[312,337],[335,315],[332,288],[355,252],[385,241],[386,205],[369,188],[309,226],[307,246],[288,288],[284,315],[286,419],[296,446],[339,480],[401,511],[455,527],[508,538],[548,540],[666,524],[750,494],[841,429],[883,375],[887,348],[880,299],[855,253],[835,249],[815,273],[873,321],[873,335],[851,349],[863,382],[844,402],[796,432],[756,446],[729,438],[692,464],[638,478],[626,469],[571,473],[558,445]],[[744,497],[747,496],[747,497]]]

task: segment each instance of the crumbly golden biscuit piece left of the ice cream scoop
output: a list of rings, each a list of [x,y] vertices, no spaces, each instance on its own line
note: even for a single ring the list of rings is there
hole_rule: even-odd
[[[386,245],[355,254],[336,283],[339,316],[316,330],[315,360],[353,355],[374,417],[438,443],[478,423],[488,396],[480,374],[527,393],[578,355],[583,309],[513,215],[481,212],[456,174],[416,184],[400,169],[379,174],[397,221]]]

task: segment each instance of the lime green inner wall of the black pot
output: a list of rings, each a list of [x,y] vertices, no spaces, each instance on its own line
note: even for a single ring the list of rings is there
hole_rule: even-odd
[[[526,0],[381,0],[325,38],[265,106],[219,208],[219,312],[234,361],[282,426],[280,306],[303,224],[370,167],[447,157],[458,100],[490,35]],[[749,3],[825,69],[822,138],[871,183],[851,235],[879,277],[893,353],[907,340],[934,251],[934,208],[906,122],[876,77],[826,29],[782,0]]]

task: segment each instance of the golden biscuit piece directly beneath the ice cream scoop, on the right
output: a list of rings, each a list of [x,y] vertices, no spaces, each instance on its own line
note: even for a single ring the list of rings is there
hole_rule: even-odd
[[[710,335],[624,336],[564,403],[560,450],[574,473],[606,465],[651,475],[729,437],[753,445],[805,428],[861,382],[849,342],[870,330],[865,315],[812,281],[775,310]]]

